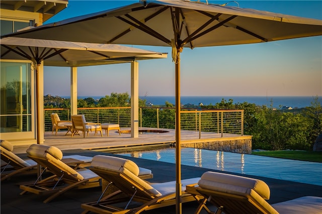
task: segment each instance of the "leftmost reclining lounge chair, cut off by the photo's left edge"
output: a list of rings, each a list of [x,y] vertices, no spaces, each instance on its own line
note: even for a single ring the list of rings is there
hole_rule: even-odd
[[[37,174],[37,162],[27,159],[23,160],[13,153],[14,146],[8,140],[0,140],[1,160],[6,162],[1,166],[1,181],[10,179],[19,174]],[[81,155],[63,156],[62,161],[67,165],[78,168],[91,165],[92,157]]]

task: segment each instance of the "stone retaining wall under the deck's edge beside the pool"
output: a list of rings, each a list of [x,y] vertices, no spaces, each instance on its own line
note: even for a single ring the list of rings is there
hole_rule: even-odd
[[[218,141],[187,142],[181,147],[252,154],[252,138]]]

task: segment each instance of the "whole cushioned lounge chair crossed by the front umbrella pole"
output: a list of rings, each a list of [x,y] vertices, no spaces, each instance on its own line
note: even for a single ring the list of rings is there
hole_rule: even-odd
[[[118,190],[110,192],[98,201],[83,203],[83,214],[90,211],[96,213],[140,213],[144,210],[176,204],[176,182],[150,184],[138,177],[138,166],[126,159],[97,155],[93,158],[90,170],[109,181],[109,186]],[[200,178],[182,180],[181,202],[193,201],[191,194],[184,192],[187,184],[196,183]],[[112,188],[113,188],[112,187]],[[128,207],[131,208],[128,208]]]

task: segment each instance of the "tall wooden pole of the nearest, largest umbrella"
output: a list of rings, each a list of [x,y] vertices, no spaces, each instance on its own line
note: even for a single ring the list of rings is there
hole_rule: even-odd
[[[180,48],[178,48],[176,59],[176,214],[182,213],[180,106]]]

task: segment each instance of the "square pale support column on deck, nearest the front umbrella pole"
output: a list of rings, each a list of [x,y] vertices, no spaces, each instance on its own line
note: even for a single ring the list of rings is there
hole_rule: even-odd
[[[131,62],[131,137],[139,136],[139,63]]]

